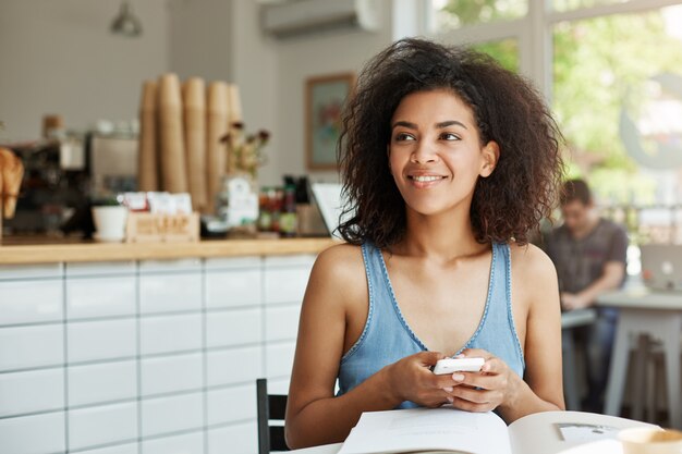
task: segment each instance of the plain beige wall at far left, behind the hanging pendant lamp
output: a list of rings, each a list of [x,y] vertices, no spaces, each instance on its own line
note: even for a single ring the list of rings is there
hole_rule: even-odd
[[[132,1],[141,38],[109,33],[118,1],[0,1],[3,142],[40,136],[41,118],[68,127],[137,116],[141,82],[169,66],[167,0]]]

